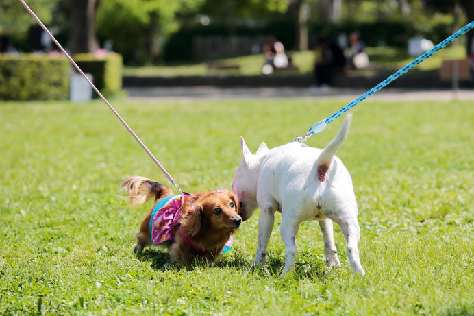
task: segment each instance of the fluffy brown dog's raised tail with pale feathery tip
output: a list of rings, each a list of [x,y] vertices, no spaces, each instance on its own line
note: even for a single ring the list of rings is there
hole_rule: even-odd
[[[161,199],[173,194],[173,191],[163,184],[138,175],[123,180],[120,187],[129,195],[132,205],[143,204],[152,197]]]

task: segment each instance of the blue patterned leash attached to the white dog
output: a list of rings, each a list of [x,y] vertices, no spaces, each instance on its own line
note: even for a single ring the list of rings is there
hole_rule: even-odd
[[[416,60],[413,60],[412,62],[410,62],[410,64],[407,64],[402,69],[399,69],[399,71],[397,71],[396,73],[388,77],[383,82],[380,82],[379,84],[377,84],[377,86],[371,88],[371,90],[367,91],[366,93],[364,93],[363,95],[361,95],[360,97],[352,101],[351,103],[347,104],[347,106],[345,106],[344,108],[341,108],[340,110],[338,110],[338,112],[332,114],[330,117],[327,117],[327,119],[314,123],[310,127],[310,130],[308,130],[308,133],[306,133],[305,136],[297,136],[297,138],[295,138],[295,141],[299,141],[300,143],[302,143],[303,141],[306,141],[306,139],[308,139],[310,136],[316,135],[319,132],[322,132],[329,123],[331,123],[332,121],[340,117],[342,113],[347,112],[348,110],[351,110],[351,108],[360,104],[360,102],[364,101],[364,99],[370,97],[371,95],[376,93],[378,90],[381,90],[382,88],[384,88],[384,86],[386,86],[387,84],[390,84],[390,82],[392,82],[393,80],[407,73],[408,71],[410,71],[410,69],[414,68],[414,66],[417,66],[420,62],[423,62],[423,60],[433,56],[434,53],[436,53],[440,49],[445,48],[447,45],[451,44],[453,40],[456,40],[456,38],[460,37],[466,32],[469,32],[469,30],[471,30],[472,28],[474,28],[474,21],[471,21],[471,23],[462,27],[462,29],[460,29],[458,32],[449,36],[449,38],[446,38],[445,40],[440,42],[438,45],[436,45],[435,47],[433,47],[432,49],[430,49],[429,51],[421,55],[419,58],[416,58]]]

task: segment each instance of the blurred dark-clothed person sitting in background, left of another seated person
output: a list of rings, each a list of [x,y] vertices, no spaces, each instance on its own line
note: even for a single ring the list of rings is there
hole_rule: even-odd
[[[316,63],[314,64],[314,80],[316,86],[332,85],[334,73],[344,71],[346,58],[340,47],[329,38],[321,38],[316,47]]]

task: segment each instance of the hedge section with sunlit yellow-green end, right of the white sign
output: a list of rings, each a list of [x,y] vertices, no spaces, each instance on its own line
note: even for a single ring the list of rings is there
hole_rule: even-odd
[[[81,53],[73,56],[77,66],[84,73],[94,76],[94,84],[105,95],[115,95],[122,89],[122,56],[118,53],[108,53],[97,58],[91,53]],[[93,94],[97,97],[97,93]]]

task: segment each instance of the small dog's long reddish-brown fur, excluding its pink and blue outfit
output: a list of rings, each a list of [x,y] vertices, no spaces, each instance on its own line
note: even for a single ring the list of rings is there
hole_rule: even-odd
[[[121,188],[129,195],[132,205],[145,203],[153,197],[155,200],[159,200],[173,194],[173,191],[166,186],[139,176],[126,178],[121,184]],[[234,208],[230,206],[230,202],[234,203]],[[138,251],[151,245],[149,223],[153,207],[143,219],[140,232],[135,235]],[[214,212],[218,207],[222,210],[220,215],[216,215]],[[203,258],[207,259],[208,263],[220,259],[223,247],[231,232],[240,225],[242,218],[238,215],[238,208],[236,195],[227,190],[219,193],[216,191],[194,193],[184,200],[179,223],[184,233],[195,245],[205,251]],[[175,242],[166,245],[166,247],[173,262],[181,261],[189,265],[192,258],[196,257],[196,254],[184,241],[179,226],[175,228]]]

